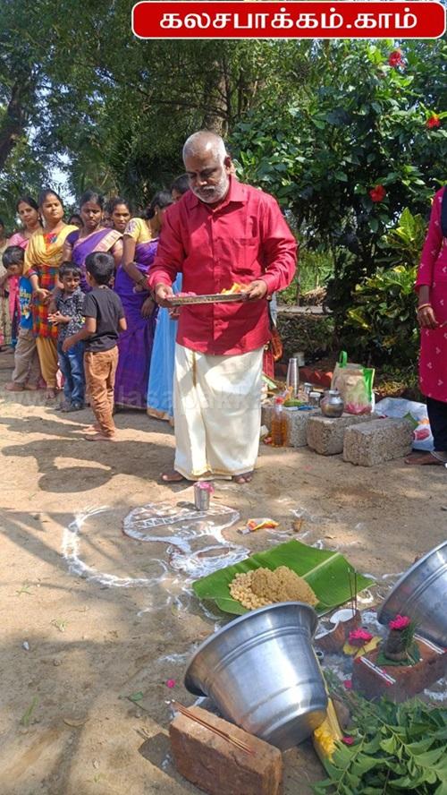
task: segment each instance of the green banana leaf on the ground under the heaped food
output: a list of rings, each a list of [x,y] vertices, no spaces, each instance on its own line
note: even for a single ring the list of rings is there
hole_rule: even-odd
[[[235,575],[260,567],[274,570],[278,566],[288,566],[308,582],[318,598],[318,615],[350,601],[356,572],[348,560],[340,552],[318,550],[299,541],[281,543],[274,549],[257,552],[234,566],[220,568],[207,577],[201,577],[192,587],[202,601],[215,602],[223,612],[239,616],[248,611],[230,594],[229,585]],[[374,582],[369,577],[357,574],[357,593],[373,586]]]

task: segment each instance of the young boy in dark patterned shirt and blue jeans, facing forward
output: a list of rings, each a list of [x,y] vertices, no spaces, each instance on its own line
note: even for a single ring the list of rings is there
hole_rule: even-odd
[[[55,296],[56,311],[48,320],[58,326],[57,353],[63,373],[63,403],[60,410],[80,411],[84,407],[84,343],[78,342],[70,350],[63,350],[63,341],[84,327],[84,294],[80,289],[81,271],[72,262],[63,262],[59,279],[63,291]]]

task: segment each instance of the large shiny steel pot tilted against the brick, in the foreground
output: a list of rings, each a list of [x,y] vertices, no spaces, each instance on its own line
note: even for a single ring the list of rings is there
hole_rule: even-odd
[[[291,748],[325,720],[325,682],[312,647],[317,622],[300,602],[246,613],[198,648],[185,686],[213,698],[246,731]]]

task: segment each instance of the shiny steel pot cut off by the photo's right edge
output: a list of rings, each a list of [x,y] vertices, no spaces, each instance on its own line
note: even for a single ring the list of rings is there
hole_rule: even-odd
[[[447,645],[447,541],[405,572],[378,611],[378,620],[387,624],[398,614],[416,621],[424,637]]]

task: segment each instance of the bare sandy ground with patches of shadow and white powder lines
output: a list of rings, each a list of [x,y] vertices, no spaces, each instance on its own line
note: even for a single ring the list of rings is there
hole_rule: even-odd
[[[0,355],[0,383],[12,363]],[[215,627],[188,590],[204,543],[220,539],[217,555],[235,554],[234,544],[268,548],[292,537],[295,511],[306,543],[339,548],[382,577],[445,538],[441,467],[399,460],[365,470],[308,449],[262,447],[251,485],[217,488],[216,502],[240,511],[223,531],[228,543],[192,534],[179,557],[163,539],[122,534],[133,509],[191,500],[191,489],[157,483],[173,459],[166,423],[119,413],[119,441],[94,445],[81,433],[89,410],[58,415],[35,396],[0,394],[2,795],[198,792],[168,757],[165,702],[193,702],[182,687],[186,661]],[[253,516],[273,517],[283,533],[247,540],[237,527]],[[138,704],[129,700],[135,693],[143,694]],[[323,777],[307,744],[284,763],[284,795],[306,795]]]

